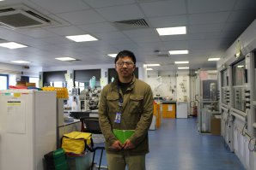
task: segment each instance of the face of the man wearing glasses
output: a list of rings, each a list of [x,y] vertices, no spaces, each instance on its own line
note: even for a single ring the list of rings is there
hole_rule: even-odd
[[[130,56],[119,58],[115,65],[116,71],[121,78],[131,78],[135,69],[135,64]]]

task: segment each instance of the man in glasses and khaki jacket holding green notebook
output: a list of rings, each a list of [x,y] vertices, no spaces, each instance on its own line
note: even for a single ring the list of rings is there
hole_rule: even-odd
[[[101,91],[99,120],[106,138],[109,170],[144,170],[149,153],[148,130],[153,116],[153,94],[148,84],[136,79],[136,57],[123,50],[115,58],[118,77]],[[122,144],[113,129],[134,130]]]

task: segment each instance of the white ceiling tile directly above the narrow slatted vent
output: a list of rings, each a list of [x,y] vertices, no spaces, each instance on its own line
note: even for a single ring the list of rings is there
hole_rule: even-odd
[[[127,21],[143,18],[143,12],[135,4],[96,9],[108,21]]]

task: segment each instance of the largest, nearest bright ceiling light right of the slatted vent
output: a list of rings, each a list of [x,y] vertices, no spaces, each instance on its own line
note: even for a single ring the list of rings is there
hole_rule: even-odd
[[[156,28],[160,36],[186,34],[186,26]]]

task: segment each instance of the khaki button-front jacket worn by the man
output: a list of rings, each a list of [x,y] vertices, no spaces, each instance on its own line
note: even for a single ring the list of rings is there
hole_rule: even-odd
[[[130,86],[125,94],[119,90],[123,97],[121,123],[115,123],[115,115],[119,111],[119,93],[117,80],[106,85],[101,91],[99,107],[99,121],[101,131],[106,138],[107,153],[119,153],[109,147],[117,140],[113,129],[135,130],[129,138],[135,149],[128,149],[130,155],[142,155],[149,152],[148,130],[153,116],[153,94],[148,84],[133,76]],[[126,152],[126,151],[125,151]]]

